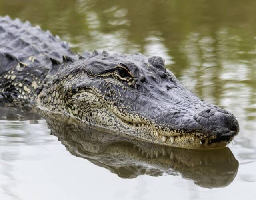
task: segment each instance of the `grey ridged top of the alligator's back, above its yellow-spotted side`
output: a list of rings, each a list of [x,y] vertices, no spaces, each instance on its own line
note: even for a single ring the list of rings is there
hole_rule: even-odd
[[[0,75],[22,63],[28,67],[44,66],[47,70],[52,59],[73,55],[68,44],[49,31],[32,27],[30,22],[0,17]],[[21,65],[22,65],[21,64]]]

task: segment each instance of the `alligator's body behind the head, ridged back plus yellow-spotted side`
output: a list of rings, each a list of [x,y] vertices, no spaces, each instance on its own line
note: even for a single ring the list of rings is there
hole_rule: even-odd
[[[32,88],[40,90],[48,71],[63,56],[74,54],[58,36],[42,31],[39,26],[32,27],[28,21],[0,17],[0,99],[15,99],[22,94],[24,85],[34,84]],[[14,79],[23,84],[18,87]]]

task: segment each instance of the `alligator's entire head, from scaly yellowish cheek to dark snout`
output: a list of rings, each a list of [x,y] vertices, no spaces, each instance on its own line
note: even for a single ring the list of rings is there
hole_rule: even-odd
[[[48,75],[38,105],[152,143],[220,147],[238,134],[233,114],[204,102],[161,57],[86,53]]]

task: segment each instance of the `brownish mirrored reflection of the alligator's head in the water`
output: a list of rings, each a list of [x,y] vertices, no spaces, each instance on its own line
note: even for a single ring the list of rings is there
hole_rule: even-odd
[[[104,167],[121,178],[139,175],[181,175],[202,187],[229,185],[238,170],[238,161],[229,148],[207,150],[165,147],[123,137],[79,120],[44,113],[51,134],[72,155]]]

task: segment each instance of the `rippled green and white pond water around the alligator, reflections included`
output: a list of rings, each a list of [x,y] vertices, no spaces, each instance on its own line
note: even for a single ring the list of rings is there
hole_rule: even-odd
[[[100,141],[90,127],[82,128],[90,137],[72,135],[72,122],[0,108],[0,199],[255,199],[255,8],[254,0],[0,0],[1,16],[40,25],[74,51],[162,56],[240,124],[228,148],[202,153],[111,143],[110,133]]]

